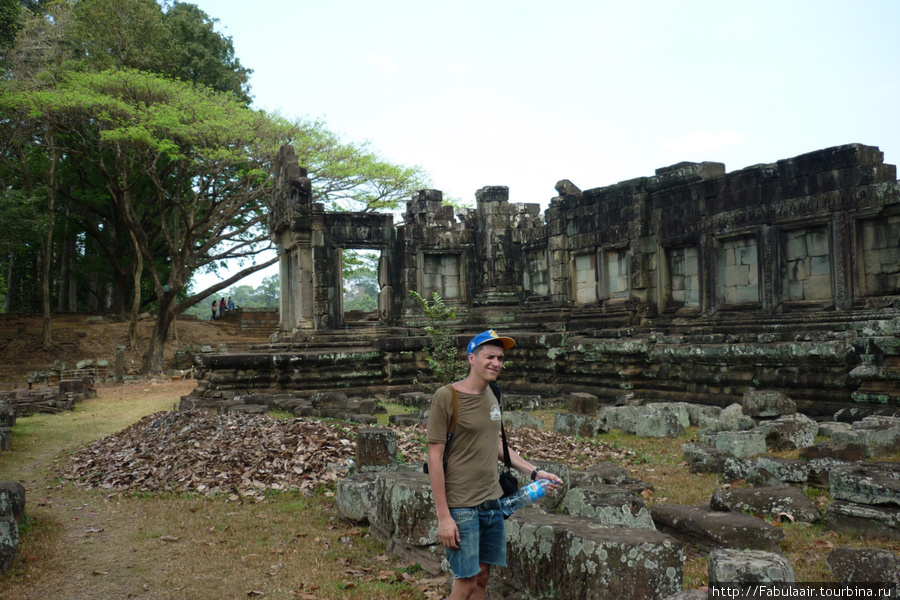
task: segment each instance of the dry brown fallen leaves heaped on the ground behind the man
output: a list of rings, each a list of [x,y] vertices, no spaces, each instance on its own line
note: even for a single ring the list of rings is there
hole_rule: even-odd
[[[402,460],[425,459],[425,426],[392,427]],[[74,454],[63,476],[88,488],[180,492],[263,500],[268,491],[311,493],[344,476],[358,426],[267,415],[157,413]],[[548,431],[508,432],[532,462],[627,464],[633,453]]]

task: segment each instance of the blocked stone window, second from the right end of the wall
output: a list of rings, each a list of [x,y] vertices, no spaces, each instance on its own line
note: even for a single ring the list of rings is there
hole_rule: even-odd
[[[831,244],[827,227],[781,232],[782,300],[831,300]]]

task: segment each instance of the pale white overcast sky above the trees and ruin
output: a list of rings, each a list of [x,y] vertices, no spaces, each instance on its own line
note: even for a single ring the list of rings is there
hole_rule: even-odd
[[[900,162],[900,2],[195,0],[254,105],[474,202],[859,142]]]

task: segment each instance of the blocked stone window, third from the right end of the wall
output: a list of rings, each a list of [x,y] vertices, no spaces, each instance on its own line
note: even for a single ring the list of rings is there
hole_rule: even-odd
[[[756,237],[721,240],[716,248],[716,298],[720,305],[759,303]]]

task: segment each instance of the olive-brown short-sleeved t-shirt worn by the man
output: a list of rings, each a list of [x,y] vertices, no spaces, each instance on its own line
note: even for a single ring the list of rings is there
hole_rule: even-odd
[[[490,388],[483,394],[457,391],[459,413],[450,442],[444,481],[450,508],[478,506],[503,495],[497,478],[497,448],[500,442],[500,405]],[[426,441],[446,444],[453,412],[453,396],[442,387],[431,400]]]

